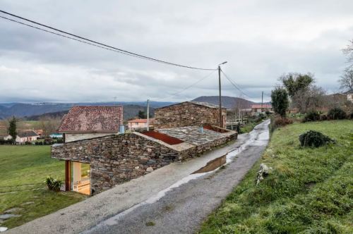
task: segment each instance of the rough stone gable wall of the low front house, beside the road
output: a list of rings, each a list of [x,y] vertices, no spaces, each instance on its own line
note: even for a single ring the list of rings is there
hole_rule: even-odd
[[[52,158],[89,163],[94,194],[179,161],[179,152],[131,133],[54,145]]]

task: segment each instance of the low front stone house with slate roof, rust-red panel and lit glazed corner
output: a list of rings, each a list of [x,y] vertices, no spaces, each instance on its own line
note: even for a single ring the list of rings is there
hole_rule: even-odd
[[[66,190],[93,195],[235,139],[212,125],[168,128],[54,144],[52,158],[66,161]]]

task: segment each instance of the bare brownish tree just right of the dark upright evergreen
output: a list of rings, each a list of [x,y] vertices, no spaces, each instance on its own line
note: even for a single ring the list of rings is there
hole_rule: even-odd
[[[321,87],[310,85],[305,89],[299,90],[292,101],[301,113],[320,109],[325,106],[325,91]]]

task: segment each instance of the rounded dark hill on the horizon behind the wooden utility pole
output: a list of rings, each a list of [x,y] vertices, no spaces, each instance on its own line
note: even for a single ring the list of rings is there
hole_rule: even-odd
[[[203,101],[203,102],[208,102],[210,104],[219,105],[218,96],[201,96],[201,97],[197,97],[196,99],[193,99],[193,101]],[[236,106],[238,103],[240,103],[241,107],[244,109],[251,108],[251,105],[253,104],[258,104],[256,102],[249,101],[246,99],[241,99],[239,97],[222,96],[222,106],[228,109],[234,108],[234,106]]]

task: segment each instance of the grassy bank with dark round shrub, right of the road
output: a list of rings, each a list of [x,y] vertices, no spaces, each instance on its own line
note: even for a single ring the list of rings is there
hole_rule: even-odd
[[[299,146],[318,130],[337,144]],[[259,185],[264,163],[273,170]],[[353,121],[294,123],[273,133],[263,157],[200,233],[353,233]]]

